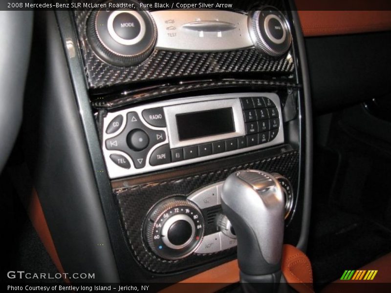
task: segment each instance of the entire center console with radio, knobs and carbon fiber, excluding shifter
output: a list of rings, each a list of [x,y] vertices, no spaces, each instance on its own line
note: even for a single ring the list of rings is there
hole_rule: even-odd
[[[272,2],[56,12],[121,281],[177,282],[234,259],[221,186],[241,169],[279,180],[284,242],[305,248],[302,37],[290,3]]]

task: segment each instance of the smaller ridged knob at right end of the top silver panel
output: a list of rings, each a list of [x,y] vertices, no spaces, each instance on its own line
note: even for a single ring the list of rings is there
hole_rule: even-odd
[[[252,11],[248,29],[254,46],[268,56],[280,57],[292,42],[289,23],[281,11],[272,6]]]

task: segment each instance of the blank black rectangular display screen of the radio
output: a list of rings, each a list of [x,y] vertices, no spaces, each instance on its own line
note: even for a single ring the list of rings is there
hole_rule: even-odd
[[[235,132],[232,108],[176,114],[180,141]]]

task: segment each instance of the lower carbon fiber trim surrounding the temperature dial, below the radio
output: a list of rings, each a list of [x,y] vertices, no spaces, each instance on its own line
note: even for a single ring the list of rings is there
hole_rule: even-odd
[[[176,272],[221,259],[235,252],[235,249],[212,254],[192,254],[184,259],[169,261],[154,255],[142,240],[143,221],[148,211],[159,200],[172,195],[189,195],[195,189],[224,180],[232,172],[240,169],[260,169],[266,172],[278,172],[287,177],[297,190],[299,174],[299,152],[296,150],[282,155],[263,158],[258,161],[208,173],[176,178],[172,181],[151,182],[131,188],[114,190],[117,197],[123,229],[134,257],[146,269],[152,272]]]

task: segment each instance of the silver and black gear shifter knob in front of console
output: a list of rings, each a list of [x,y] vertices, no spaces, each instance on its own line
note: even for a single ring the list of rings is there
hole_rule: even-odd
[[[284,230],[280,183],[259,170],[241,170],[222,187],[222,209],[238,237],[242,282],[279,282]]]

